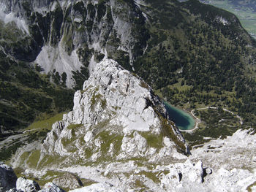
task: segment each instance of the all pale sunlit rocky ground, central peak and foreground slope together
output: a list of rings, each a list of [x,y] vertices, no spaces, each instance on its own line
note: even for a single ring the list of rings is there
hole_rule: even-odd
[[[44,181],[42,191],[255,191],[255,148],[255,134],[239,130],[189,155],[146,82],[106,59],[75,93],[72,112],[11,165]],[[0,191],[40,190],[9,166],[0,171]]]

